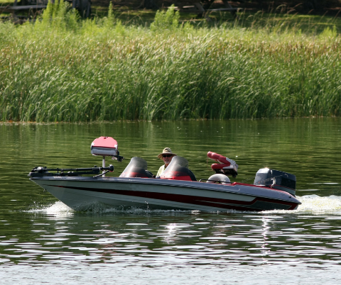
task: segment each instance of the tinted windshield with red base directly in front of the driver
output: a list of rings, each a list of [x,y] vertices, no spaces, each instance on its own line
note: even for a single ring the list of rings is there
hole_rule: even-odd
[[[174,180],[186,180],[197,181],[193,172],[188,169],[188,160],[178,155],[172,158],[171,163],[166,170],[161,174],[161,179],[174,179]]]

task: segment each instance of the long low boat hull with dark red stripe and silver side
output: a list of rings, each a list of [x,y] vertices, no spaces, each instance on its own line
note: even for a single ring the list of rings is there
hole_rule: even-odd
[[[285,191],[246,184],[123,177],[31,177],[76,211],[101,203],[114,208],[192,211],[293,210],[301,203]]]

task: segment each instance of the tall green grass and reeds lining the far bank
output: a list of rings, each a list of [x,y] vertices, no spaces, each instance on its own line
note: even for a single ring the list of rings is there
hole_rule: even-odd
[[[337,30],[271,21],[195,28],[168,11],[148,28],[49,4],[0,23],[0,121],[340,116]]]

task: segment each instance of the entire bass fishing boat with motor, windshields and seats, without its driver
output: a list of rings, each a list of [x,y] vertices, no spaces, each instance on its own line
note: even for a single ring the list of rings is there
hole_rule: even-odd
[[[111,140],[109,143],[109,139]],[[101,137],[92,143],[92,154],[122,160],[117,142]],[[161,175],[153,178],[147,163],[133,157],[120,177],[105,177],[114,167],[90,169],[47,169],[35,167],[29,177],[67,206],[76,210],[91,208],[94,203],[109,207],[149,209],[185,209],[199,211],[293,210],[300,201],[295,198],[296,177],[285,172],[260,169],[254,184],[231,183],[227,174],[237,175],[238,165],[222,155],[208,152],[216,174],[197,181],[183,157],[173,157]],[[101,170],[106,170],[100,173]],[[53,171],[55,173],[53,173]],[[93,177],[83,177],[92,174]]]

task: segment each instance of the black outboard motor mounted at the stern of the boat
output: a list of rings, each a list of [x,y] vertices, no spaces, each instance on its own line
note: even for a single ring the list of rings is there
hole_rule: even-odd
[[[296,176],[269,168],[261,168],[256,173],[254,185],[283,190],[291,195],[296,194]]]

